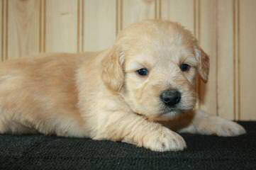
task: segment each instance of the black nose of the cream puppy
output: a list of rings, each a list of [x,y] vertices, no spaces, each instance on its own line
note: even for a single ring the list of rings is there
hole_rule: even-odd
[[[172,107],[179,103],[180,99],[182,98],[182,94],[177,90],[167,90],[162,92],[160,98],[166,106]]]

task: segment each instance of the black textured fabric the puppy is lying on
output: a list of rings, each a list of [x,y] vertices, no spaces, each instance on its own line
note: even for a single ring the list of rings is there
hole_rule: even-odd
[[[256,122],[240,137],[182,134],[182,152],[151,152],[122,142],[0,135],[1,169],[256,169]]]

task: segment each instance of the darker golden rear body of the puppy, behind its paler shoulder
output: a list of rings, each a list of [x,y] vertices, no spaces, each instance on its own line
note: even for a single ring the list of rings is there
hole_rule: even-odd
[[[84,123],[77,107],[75,81],[78,64],[77,55],[45,55],[1,63],[1,132],[37,130],[82,136]]]

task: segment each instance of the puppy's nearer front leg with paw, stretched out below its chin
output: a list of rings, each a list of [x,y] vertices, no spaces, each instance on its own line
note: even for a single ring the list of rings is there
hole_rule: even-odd
[[[153,151],[177,151],[186,147],[183,138],[159,123],[149,122],[134,113],[108,114],[99,126],[94,140],[128,142]]]

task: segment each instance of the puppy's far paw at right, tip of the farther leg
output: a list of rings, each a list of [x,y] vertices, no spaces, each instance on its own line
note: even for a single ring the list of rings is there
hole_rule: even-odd
[[[217,124],[216,127],[216,135],[218,136],[238,136],[245,134],[245,128],[230,120],[221,120],[220,123]]]

